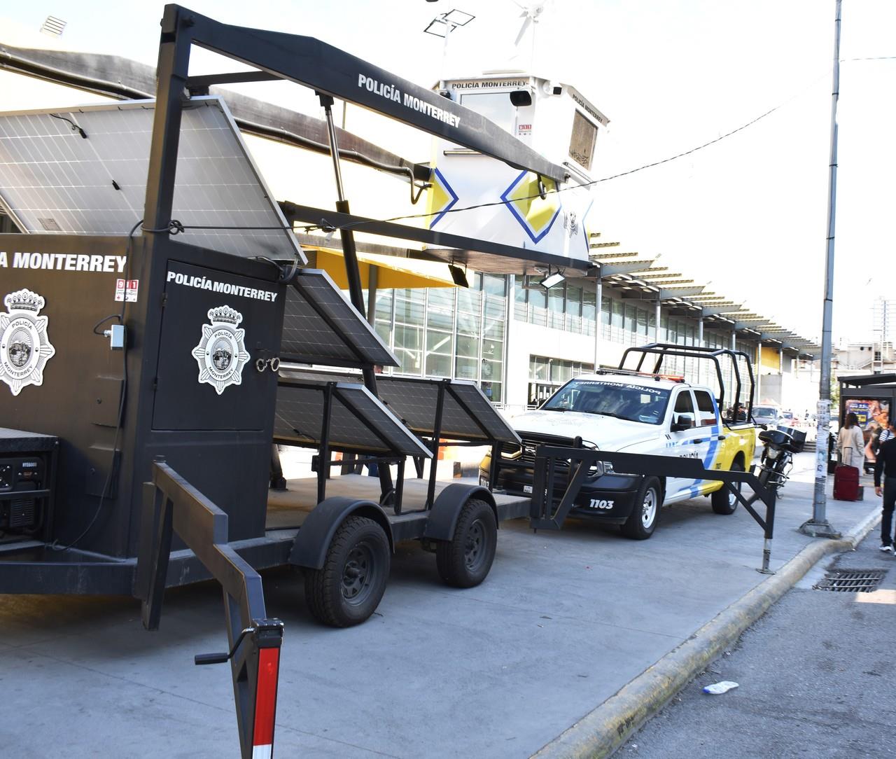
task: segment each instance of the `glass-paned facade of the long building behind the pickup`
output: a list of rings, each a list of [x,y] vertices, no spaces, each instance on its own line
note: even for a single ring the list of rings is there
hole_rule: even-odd
[[[503,405],[506,326],[511,304],[513,318],[521,322],[592,337],[598,328],[603,340],[623,346],[655,340],[653,303],[623,300],[605,288],[598,314],[593,281],[566,280],[546,291],[524,289],[520,276],[477,272],[470,279],[469,289],[395,289],[377,293],[376,331],[401,362],[400,367],[387,368],[387,373],[471,380],[491,401]],[[730,347],[730,332],[715,332],[710,323],[705,326],[706,346]],[[697,334],[693,319],[660,315],[656,334],[659,342],[693,345]],[[737,341],[737,349],[744,350],[755,364],[754,343]],[[530,405],[544,401],[573,375],[592,370],[591,364],[531,354]],[[673,358],[664,370],[684,375],[692,382],[709,384],[718,391],[715,370],[709,362]],[[740,362],[739,370],[745,384],[745,362]],[[733,367],[723,363],[723,373],[728,387],[733,387]]]

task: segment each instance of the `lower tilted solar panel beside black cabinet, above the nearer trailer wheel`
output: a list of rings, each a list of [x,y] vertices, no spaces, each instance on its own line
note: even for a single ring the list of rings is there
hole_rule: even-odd
[[[361,384],[280,380],[274,417],[275,440],[314,447],[321,444],[324,393],[328,384],[332,388],[328,437],[333,448],[353,453],[432,456],[392,411]]]

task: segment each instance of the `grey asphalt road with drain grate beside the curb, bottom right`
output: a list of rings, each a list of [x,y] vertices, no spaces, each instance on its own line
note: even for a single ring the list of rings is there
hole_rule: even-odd
[[[896,558],[878,544],[815,567],[616,756],[896,756]],[[887,574],[875,593],[813,590],[833,568]],[[702,692],[720,680],[739,687]]]

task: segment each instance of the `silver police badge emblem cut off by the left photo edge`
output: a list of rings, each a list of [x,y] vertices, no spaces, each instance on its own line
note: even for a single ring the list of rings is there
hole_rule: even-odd
[[[46,301],[36,292],[21,289],[4,299],[0,314],[0,380],[13,395],[28,384],[43,384],[44,367],[56,354],[47,339],[47,316],[39,316]]]

